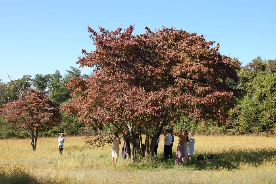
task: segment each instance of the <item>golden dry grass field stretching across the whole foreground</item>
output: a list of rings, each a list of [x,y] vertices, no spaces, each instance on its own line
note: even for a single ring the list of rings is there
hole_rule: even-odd
[[[83,137],[66,137],[62,156],[57,137],[39,138],[36,152],[29,139],[0,140],[0,183],[276,183],[275,137],[196,135],[195,158],[186,166],[175,166],[175,158],[164,162],[160,138],[157,159],[118,158],[116,166],[110,145],[89,148]],[[199,154],[218,162],[197,164]]]

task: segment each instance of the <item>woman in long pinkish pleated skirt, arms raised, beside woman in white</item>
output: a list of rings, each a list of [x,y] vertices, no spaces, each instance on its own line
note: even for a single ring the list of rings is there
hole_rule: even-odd
[[[181,129],[180,132],[174,133],[173,135],[178,138],[178,146],[176,151],[175,165],[186,164],[186,151],[187,151],[187,130]]]

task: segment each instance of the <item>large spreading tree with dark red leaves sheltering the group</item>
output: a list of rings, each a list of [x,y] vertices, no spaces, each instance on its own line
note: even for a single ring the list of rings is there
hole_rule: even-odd
[[[163,127],[179,114],[200,119],[226,119],[235,103],[229,83],[237,82],[237,60],[221,55],[219,45],[203,35],[165,28],[134,36],[133,26],[109,31],[88,26],[95,51],[83,50],[81,67],[95,67],[87,80],[76,78],[67,85],[76,98],[63,106],[78,114],[87,126],[112,123],[129,129],[131,160],[135,156],[135,131],[147,135],[149,151]],[[141,138],[140,138],[141,139]]]

